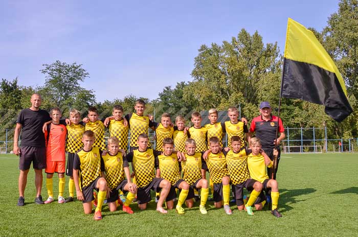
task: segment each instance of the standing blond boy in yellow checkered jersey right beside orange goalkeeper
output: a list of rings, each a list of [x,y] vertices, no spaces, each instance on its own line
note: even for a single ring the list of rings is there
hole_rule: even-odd
[[[67,140],[66,140],[66,152],[67,152],[67,167],[66,175],[70,177],[69,180],[69,197],[64,200],[64,203],[73,202],[75,199],[75,182],[73,180],[73,162],[76,152],[83,148],[82,135],[84,133],[84,124],[80,121],[81,114],[76,109],[70,111],[71,123],[66,126]]]

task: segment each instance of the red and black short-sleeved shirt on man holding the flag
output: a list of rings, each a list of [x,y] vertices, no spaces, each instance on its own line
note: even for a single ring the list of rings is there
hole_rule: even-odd
[[[270,120],[265,121],[262,115],[254,117],[251,122],[250,132],[256,132],[256,137],[260,139],[263,150],[272,150],[275,148],[274,141],[276,139],[276,129],[279,132],[284,132],[282,120],[271,115]]]

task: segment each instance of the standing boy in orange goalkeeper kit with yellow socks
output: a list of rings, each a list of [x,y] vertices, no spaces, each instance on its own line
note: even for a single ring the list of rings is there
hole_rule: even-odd
[[[59,108],[52,108],[50,111],[52,123],[47,125],[45,131],[46,139],[46,187],[49,198],[44,203],[51,203],[53,198],[53,176],[58,173],[58,203],[64,203],[64,167],[66,164],[65,143],[67,129],[60,124],[61,111]]]

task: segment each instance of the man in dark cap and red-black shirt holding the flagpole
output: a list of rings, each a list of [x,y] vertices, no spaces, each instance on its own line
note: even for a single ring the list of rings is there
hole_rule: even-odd
[[[286,135],[284,133],[284,128],[282,124],[281,118],[278,118],[271,113],[272,108],[269,102],[264,101],[260,104],[260,115],[255,117],[251,122],[251,127],[249,131],[249,138],[252,137],[253,133],[255,132],[256,137],[260,139],[262,149],[265,151],[267,156],[270,157],[271,160],[274,159],[274,148],[275,148],[275,140],[276,145],[279,146],[281,140],[283,140]],[[279,137],[276,137],[276,128],[278,126]],[[276,139],[277,138],[277,139]],[[275,169],[274,179],[276,179],[276,173],[278,170],[278,163],[280,161],[280,148],[277,147],[279,153],[277,157],[277,168]],[[272,170],[267,168],[267,174],[269,177],[272,176]]]

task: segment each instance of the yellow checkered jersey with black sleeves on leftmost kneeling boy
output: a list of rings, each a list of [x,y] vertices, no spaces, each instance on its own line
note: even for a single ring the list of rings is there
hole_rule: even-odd
[[[101,172],[104,171],[104,163],[99,148],[92,147],[91,151],[82,149],[77,152],[73,161],[73,169],[80,172],[82,189],[100,177]]]

